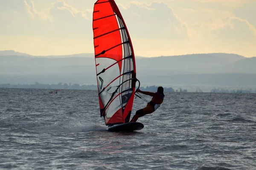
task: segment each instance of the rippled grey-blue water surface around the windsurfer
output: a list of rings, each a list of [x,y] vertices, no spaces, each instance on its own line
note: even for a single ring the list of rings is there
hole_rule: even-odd
[[[142,130],[111,133],[96,91],[49,91],[0,88],[0,169],[256,169],[256,94],[165,93]]]

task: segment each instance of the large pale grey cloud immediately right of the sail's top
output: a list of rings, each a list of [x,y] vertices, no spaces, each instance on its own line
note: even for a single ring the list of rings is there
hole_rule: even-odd
[[[181,40],[189,37],[187,24],[166,3],[133,1],[119,9],[130,34],[137,38]]]

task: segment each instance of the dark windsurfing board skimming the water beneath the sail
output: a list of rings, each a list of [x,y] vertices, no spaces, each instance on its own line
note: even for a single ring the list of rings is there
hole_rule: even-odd
[[[144,125],[140,122],[129,122],[120,125],[113,125],[108,127],[109,132],[133,132],[143,129]]]

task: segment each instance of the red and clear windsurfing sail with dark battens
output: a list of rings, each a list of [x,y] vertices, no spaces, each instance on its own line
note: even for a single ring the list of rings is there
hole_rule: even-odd
[[[105,125],[130,120],[136,84],[134,51],[114,0],[97,0],[93,9],[93,42],[100,116]]]

